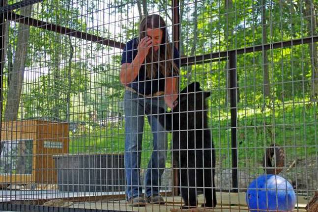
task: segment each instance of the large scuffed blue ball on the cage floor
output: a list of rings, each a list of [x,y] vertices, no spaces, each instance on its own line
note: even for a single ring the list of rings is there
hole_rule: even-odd
[[[278,175],[258,177],[249,185],[245,198],[250,212],[292,212],[296,205],[292,185]]]

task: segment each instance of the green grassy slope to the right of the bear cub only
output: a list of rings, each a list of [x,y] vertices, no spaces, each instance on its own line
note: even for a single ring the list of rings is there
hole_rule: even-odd
[[[275,114],[275,115],[274,115]],[[287,166],[294,159],[317,157],[318,108],[309,105],[286,104],[261,112],[260,109],[238,111],[237,154],[240,168],[262,172],[265,148],[275,142],[285,151]],[[213,117],[213,115],[212,115]],[[220,116],[219,116],[220,117]],[[222,168],[231,167],[231,120],[212,120],[212,134],[217,162]]]

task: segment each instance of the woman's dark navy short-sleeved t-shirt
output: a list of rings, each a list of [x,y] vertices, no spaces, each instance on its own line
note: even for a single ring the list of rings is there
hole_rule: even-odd
[[[134,38],[127,42],[123,53],[121,64],[123,63],[132,63],[134,58],[138,53],[138,38]],[[173,62],[175,65],[180,68],[179,63],[179,52],[176,48],[173,47]],[[134,81],[129,83],[127,86],[133,88],[136,92],[144,95],[154,94],[158,91],[165,91],[165,76],[161,74],[158,68],[158,72],[153,79],[149,79],[146,74],[145,65],[139,70],[139,74]],[[173,72],[173,76],[177,77]]]

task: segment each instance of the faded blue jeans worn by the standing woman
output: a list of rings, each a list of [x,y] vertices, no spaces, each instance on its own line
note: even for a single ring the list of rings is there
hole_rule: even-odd
[[[148,168],[145,173],[145,195],[159,194],[161,176],[165,169],[168,139],[163,126],[153,115],[146,114],[145,107],[154,110],[158,107],[166,108],[163,97],[144,98],[131,91],[125,91],[125,174],[127,199],[142,195],[140,182],[140,163],[142,156],[142,139],[144,130],[144,117],[147,115],[148,122],[153,134],[153,151]]]

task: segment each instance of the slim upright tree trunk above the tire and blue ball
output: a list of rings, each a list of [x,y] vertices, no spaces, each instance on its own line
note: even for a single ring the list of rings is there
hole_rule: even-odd
[[[262,0],[262,13],[261,13],[261,22],[262,22],[262,43],[267,44],[267,32],[266,32],[266,0]],[[267,50],[263,50],[263,95],[264,98],[271,97],[270,95],[270,81],[268,73],[268,57]]]

